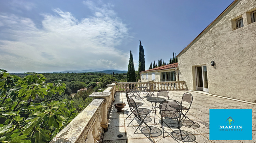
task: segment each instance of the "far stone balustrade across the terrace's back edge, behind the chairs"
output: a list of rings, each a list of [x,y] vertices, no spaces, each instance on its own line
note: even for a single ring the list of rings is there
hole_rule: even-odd
[[[185,81],[163,81],[163,82],[154,82],[149,81],[151,84],[156,85],[156,91],[161,89],[165,90],[186,90]],[[116,83],[116,92],[125,92],[125,84],[133,84],[135,88],[139,86],[146,86],[148,82],[117,82]],[[147,84],[149,88],[149,84]]]

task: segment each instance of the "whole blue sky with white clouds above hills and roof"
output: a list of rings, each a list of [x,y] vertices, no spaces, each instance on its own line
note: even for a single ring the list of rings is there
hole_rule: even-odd
[[[177,55],[233,0],[0,0],[0,69],[138,70]]]

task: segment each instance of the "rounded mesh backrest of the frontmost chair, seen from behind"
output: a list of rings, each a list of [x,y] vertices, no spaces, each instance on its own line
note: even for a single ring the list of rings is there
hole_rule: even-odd
[[[160,109],[160,115],[162,116],[162,112],[161,111],[170,111],[167,113],[175,113],[175,112],[179,112],[180,114],[173,114],[170,115],[168,118],[177,118],[179,117],[181,120],[181,112],[182,112],[182,108],[181,108],[181,103],[179,101],[176,100],[163,100],[160,105],[159,105],[159,109]],[[179,116],[176,116],[179,115]]]

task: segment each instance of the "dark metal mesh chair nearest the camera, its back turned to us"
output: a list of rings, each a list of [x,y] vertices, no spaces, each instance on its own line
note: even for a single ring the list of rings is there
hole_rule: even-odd
[[[181,123],[181,113],[182,108],[180,102],[176,100],[164,100],[159,105],[160,109],[160,115],[161,115],[161,128],[163,130],[163,118],[167,119],[176,119],[178,124],[178,129],[181,133],[180,123]],[[165,123],[166,124],[166,123]],[[168,124],[166,124],[168,126]],[[169,127],[169,126],[168,126]],[[170,127],[169,127],[170,128]],[[163,133],[163,138],[165,138],[165,135]],[[183,140],[182,133],[181,133],[181,139]]]

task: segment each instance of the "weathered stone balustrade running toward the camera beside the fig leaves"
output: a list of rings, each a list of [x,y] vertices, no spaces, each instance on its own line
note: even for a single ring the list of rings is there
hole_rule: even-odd
[[[62,129],[51,143],[98,143],[108,129],[108,114],[114,101],[116,82],[103,92],[94,92],[93,101]]]

